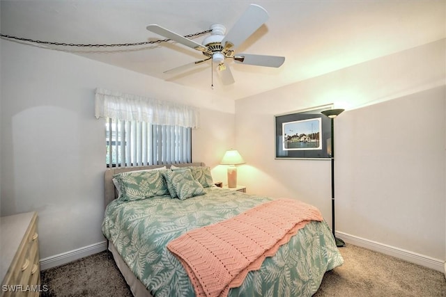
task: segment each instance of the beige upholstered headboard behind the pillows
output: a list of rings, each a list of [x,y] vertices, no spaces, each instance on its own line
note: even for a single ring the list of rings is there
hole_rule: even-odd
[[[206,166],[205,163],[180,163],[180,164],[173,164],[176,167],[185,167],[185,166]],[[116,199],[116,192],[114,190],[114,184],[113,184],[113,175],[116,175],[120,172],[128,172],[128,171],[135,171],[135,170],[148,170],[148,169],[155,169],[166,166],[167,168],[170,168],[170,165],[154,165],[154,166],[135,166],[135,167],[118,167],[118,168],[109,168],[105,170],[105,182],[104,182],[104,190],[105,190],[105,207],[112,202],[114,199]]]

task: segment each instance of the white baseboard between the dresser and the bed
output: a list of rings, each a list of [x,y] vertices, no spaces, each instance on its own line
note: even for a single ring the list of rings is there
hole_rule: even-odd
[[[107,250],[107,241],[93,243],[89,246],[77,248],[76,250],[70,250],[68,252],[63,252],[59,255],[54,255],[51,257],[47,257],[45,259],[40,259],[40,271],[44,271],[48,268],[53,268],[56,266],[67,264],[68,262],[72,262],[77,259],[81,259],[83,257],[97,254],[98,252],[102,252],[104,250]]]

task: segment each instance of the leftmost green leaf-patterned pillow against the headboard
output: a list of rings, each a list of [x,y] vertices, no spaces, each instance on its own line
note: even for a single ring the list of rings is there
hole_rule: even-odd
[[[163,171],[134,171],[114,175],[121,185],[121,196],[118,199],[134,201],[169,194],[166,181],[161,175]]]

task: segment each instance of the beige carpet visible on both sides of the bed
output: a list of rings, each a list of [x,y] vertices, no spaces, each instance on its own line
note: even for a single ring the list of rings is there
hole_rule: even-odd
[[[446,297],[443,273],[357,246],[339,250],[344,265],[325,273],[314,296]],[[110,252],[47,269],[41,278],[49,289],[41,296],[132,296]]]

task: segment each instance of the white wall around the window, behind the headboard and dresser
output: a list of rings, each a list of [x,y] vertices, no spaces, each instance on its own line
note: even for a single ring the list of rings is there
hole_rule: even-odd
[[[38,211],[40,257],[104,241],[104,120],[96,87],[198,106],[192,160],[215,167],[234,142],[234,106],[174,83],[1,40],[1,215]],[[220,166],[219,166],[220,167]],[[215,179],[224,171],[214,168]]]

